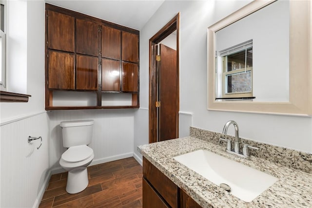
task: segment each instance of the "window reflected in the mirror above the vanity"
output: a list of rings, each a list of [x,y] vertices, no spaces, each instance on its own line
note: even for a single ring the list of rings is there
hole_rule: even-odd
[[[219,52],[222,98],[253,96],[253,40]]]

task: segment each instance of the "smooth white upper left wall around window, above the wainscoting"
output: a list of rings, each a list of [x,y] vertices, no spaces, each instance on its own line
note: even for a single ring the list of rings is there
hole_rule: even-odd
[[[1,122],[44,111],[44,1],[8,1],[7,5],[17,17],[8,22],[6,84],[8,91],[31,97],[28,103],[1,103]],[[10,36],[13,28],[19,35]]]

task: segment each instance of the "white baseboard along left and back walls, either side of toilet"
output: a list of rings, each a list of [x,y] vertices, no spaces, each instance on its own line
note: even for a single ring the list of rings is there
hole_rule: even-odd
[[[101,163],[107,163],[107,162],[111,162],[111,161],[115,161],[115,160],[120,160],[120,159],[124,159],[127,157],[134,157],[138,163],[140,163],[140,165],[142,165],[142,159],[140,159],[139,156],[137,156],[137,154],[135,154],[134,152],[128,152],[128,153],[124,153],[124,154],[117,154],[114,156],[109,156],[109,157],[104,157],[104,158],[99,158],[96,160],[93,160],[92,163],[90,164],[90,166],[94,166],[94,165],[98,165]],[[36,201],[34,203],[33,208],[38,208],[39,204],[42,200],[44,191],[47,189],[47,186],[49,185],[49,180],[51,175],[53,174],[57,174],[60,172],[65,172],[66,170],[64,170],[62,167],[57,167],[57,168],[53,168],[51,170],[48,171],[48,174],[46,176],[46,178],[44,179],[43,185],[38,193],[38,196],[36,198]]]

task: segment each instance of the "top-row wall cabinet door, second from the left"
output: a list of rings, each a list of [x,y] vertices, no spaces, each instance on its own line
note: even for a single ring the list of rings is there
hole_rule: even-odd
[[[98,56],[98,24],[76,19],[76,52]]]

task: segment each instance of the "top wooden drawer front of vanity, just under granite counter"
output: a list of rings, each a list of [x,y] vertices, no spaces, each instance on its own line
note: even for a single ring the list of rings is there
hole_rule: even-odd
[[[143,176],[172,208],[178,207],[178,187],[145,157]]]

